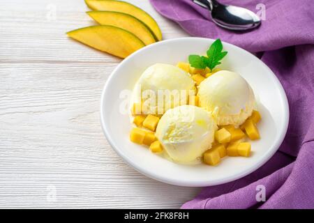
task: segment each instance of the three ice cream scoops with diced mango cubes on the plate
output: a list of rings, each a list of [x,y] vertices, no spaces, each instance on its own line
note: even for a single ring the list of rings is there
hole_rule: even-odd
[[[156,63],[135,84],[130,140],[182,164],[248,157],[246,138],[260,139],[254,106],[251,86],[236,72]]]

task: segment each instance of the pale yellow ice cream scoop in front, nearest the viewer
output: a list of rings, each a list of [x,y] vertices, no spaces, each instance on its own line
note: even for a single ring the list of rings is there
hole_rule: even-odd
[[[160,118],[156,137],[174,162],[195,164],[211,148],[217,126],[209,112],[193,105],[169,109]]]

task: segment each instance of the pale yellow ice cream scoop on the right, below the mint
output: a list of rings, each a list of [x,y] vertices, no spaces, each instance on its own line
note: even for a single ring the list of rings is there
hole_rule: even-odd
[[[199,87],[200,107],[211,112],[218,125],[241,125],[251,116],[255,96],[251,86],[236,72],[220,70]]]

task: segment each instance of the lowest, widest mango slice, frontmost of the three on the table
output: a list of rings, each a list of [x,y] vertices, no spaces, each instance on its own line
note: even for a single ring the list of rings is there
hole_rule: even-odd
[[[121,58],[126,58],[145,46],[133,33],[114,26],[89,26],[69,31],[67,34],[89,47]]]

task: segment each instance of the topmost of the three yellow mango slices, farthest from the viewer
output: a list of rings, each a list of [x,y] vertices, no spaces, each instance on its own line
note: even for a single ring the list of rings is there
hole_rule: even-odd
[[[93,0],[85,0],[87,6],[92,10],[104,10],[104,11],[115,11],[119,13],[126,13],[136,17],[138,20],[141,20],[146,24],[151,33],[153,33],[156,41],[162,40],[162,34],[157,22],[144,10],[134,6],[125,1],[93,1]]]

